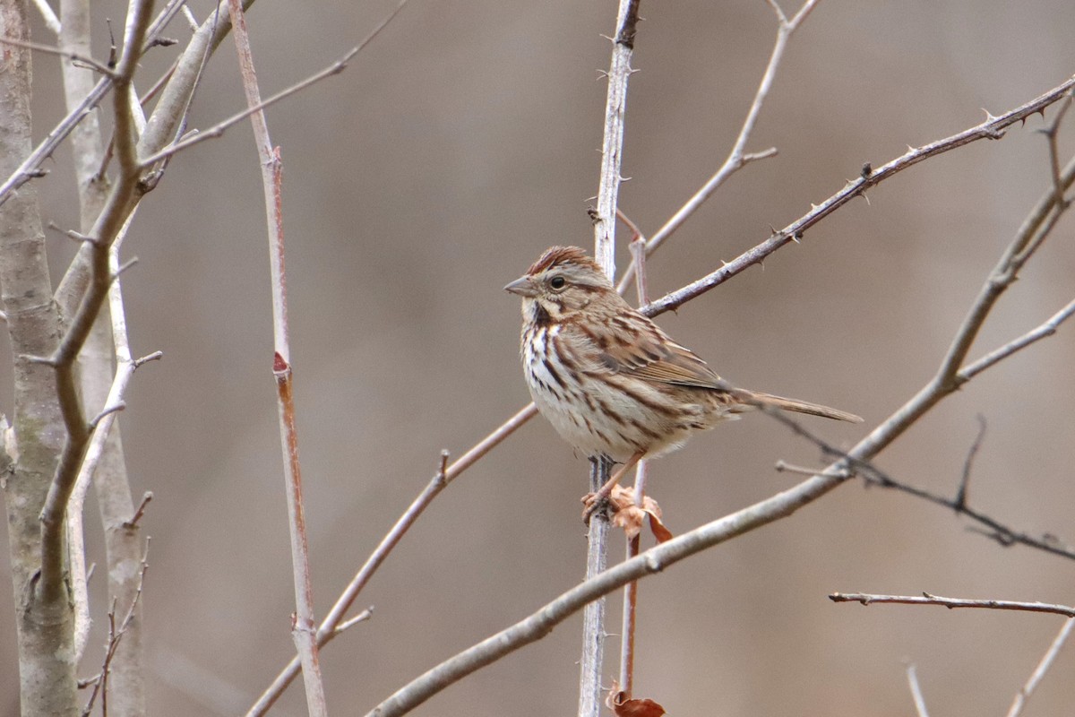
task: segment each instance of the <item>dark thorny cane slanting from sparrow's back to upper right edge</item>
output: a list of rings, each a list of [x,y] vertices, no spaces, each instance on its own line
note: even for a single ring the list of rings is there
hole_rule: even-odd
[[[903,156],[891,160],[877,170],[870,173],[863,172],[862,175],[851,180],[844,186],[843,189],[834,193],[832,197],[825,200],[820,204],[815,205],[802,217],[796,219],[784,229],[774,232],[772,236],[757,246],[744,252],[732,261],[725,263],[720,267],[720,269],[717,269],[716,271],[688,284],[687,286],[665,295],[657,301],[644,306],[641,311],[646,316],[653,317],[658,314],[663,314],[666,311],[677,309],[685,302],[705,293],[713,287],[723,284],[729,278],[745,271],[749,267],[752,267],[756,263],[761,263],[768,256],[780,247],[792,241],[802,239],[803,233],[807,229],[821,221],[837,209],[854,200],[856,197],[864,196],[866,189],[880,184],[894,174],[902,172],[920,161],[929,159],[930,157],[934,157],[938,154],[961,147],[978,140],[1000,139],[1004,137],[1004,130],[1007,127],[1010,127],[1018,121],[1022,121],[1031,115],[1042,112],[1050,104],[1063,99],[1072,87],[1075,87],[1075,77],[1067,80],[1041,97],[1006,112],[999,117],[990,116],[980,125],[971,127],[970,129],[963,130],[958,134],[952,134],[951,137],[943,140],[931,142],[922,147],[908,148]]]

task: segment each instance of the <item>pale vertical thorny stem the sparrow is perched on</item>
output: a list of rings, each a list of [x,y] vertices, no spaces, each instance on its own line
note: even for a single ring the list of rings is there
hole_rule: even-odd
[[[601,145],[601,178],[598,205],[593,216],[593,256],[610,278],[616,276],[616,198],[621,182],[624,152],[624,114],[627,107],[627,81],[631,75],[631,54],[639,23],[639,0],[620,0],[616,15],[612,61],[608,68],[608,94],[605,100],[604,139]],[[610,463],[593,462],[590,490],[597,491],[608,478]],[[608,542],[608,516],[598,511],[590,519],[586,555],[586,577],[594,577],[605,568]],[[604,599],[586,606],[583,617],[583,657],[579,670],[578,717],[597,717],[601,711],[601,666],[604,653]]]

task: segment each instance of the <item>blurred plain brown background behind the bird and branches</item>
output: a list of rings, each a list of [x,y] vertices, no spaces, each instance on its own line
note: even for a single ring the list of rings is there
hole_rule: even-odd
[[[393,4],[257,3],[249,25],[262,91],[328,64]],[[201,18],[210,5],[192,6]],[[620,206],[651,233],[723,160],[776,24],[762,0],[650,1],[642,12],[625,148],[632,178]],[[123,17],[121,5],[105,3],[105,15]],[[518,302],[501,287],[550,244],[592,245],[586,207],[605,90],[597,70],[610,53],[600,34],[614,16],[613,2],[412,0],[346,72],[269,113],[285,162],[318,615],[425,486],[440,449],[458,456],[528,400]],[[877,167],[907,144],[980,121],[981,107],[1000,114],[1061,83],[1075,71],[1073,26],[1067,0],[823,0],[792,39],[748,146],[775,145],[779,155],[734,176],[655,255],[650,291],[678,288],[757,244],[864,161]],[[103,19],[98,29],[104,57]],[[189,37],[182,21],[170,33]],[[51,41],[43,29],[35,39]],[[140,87],[173,52],[155,51]],[[234,66],[229,39],[192,126],[244,106]],[[39,55],[34,72],[43,135],[62,115],[58,60]],[[764,270],[661,325],[741,385],[860,413],[864,427],[811,424],[850,445],[932,375],[1047,187],[1041,126],[1035,117],[1001,142],[899,175]],[[1070,153],[1071,120],[1063,134]],[[64,147],[38,182],[45,220],[62,227],[77,223],[69,166]],[[144,518],[153,536],[144,605],[158,715],[242,712],[293,654],[261,202],[243,125],[172,162],[125,247],[140,259],[124,279],[132,348],[164,353],[138,373],[120,421],[134,490],[155,494]],[[1072,226],[1067,218],[1003,298],[975,356],[1072,298]],[[73,247],[55,236],[59,271]],[[1073,353],[1067,326],[943,403],[879,464],[954,492],[980,413],[989,431],[972,504],[1075,541]],[[9,397],[5,386],[4,410]],[[791,485],[793,476],[773,471],[782,458],[819,460],[774,421],[751,417],[658,461],[653,492],[683,532]],[[333,713],[364,713],[576,584],[585,475],[586,462],[539,419],[453,484],[359,599],[376,606],[373,619],[324,653]],[[100,564],[100,536],[91,540]],[[912,661],[934,714],[1003,714],[1061,618],[864,608],[826,596],[927,590],[1071,604],[1073,568],[1003,549],[942,508],[850,484],[647,579],[636,691],[680,716],[908,715]],[[94,645],[104,640],[102,584],[92,586]],[[612,604],[618,613],[618,599]],[[0,590],[0,711],[10,714],[12,610]],[[579,626],[570,620],[415,714],[573,714]],[[97,659],[83,672],[96,672]],[[1070,714],[1073,669],[1069,646],[1024,714]],[[277,714],[303,713],[296,686]]]

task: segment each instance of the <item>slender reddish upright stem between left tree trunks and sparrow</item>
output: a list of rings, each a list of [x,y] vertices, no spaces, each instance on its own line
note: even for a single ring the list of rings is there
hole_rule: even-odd
[[[261,103],[254,57],[246,33],[242,1],[228,0],[228,11],[234,28],[239,67],[246,90],[246,102],[254,107]],[[273,375],[280,408],[281,442],[284,451],[284,479],[287,489],[288,525],[291,536],[291,567],[295,573],[295,623],[292,637],[302,662],[302,676],[306,688],[306,707],[311,715],[328,714],[325,687],[318,663],[317,622],[314,620],[314,594],[310,579],[310,551],[306,543],[306,524],[302,506],[302,472],[299,464],[299,439],[295,424],[292,371],[287,333],[287,285],[284,272],[284,218],[282,215],[282,166],[280,149],[273,149],[264,112],[250,115],[255,142],[261,160],[261,177],[266,195],[266,214],[269,225],[269,262],[272,277],[273,311]]]

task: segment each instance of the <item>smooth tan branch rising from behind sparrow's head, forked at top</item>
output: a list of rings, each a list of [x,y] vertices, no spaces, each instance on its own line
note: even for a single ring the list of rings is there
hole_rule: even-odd
[[[765,98],[769,97],[769,90],[773,87],[773,81],[776,77],[777,68],[780,66],[780,60],[784,59],[784,51],[788,45],[788,41],[796,30],[802,25],[806,16],[809,15],[811,11],[814,10],[814,5],[817,4],[817,0],[807,0],[799,9],[799,12],[789,20],[780,6],[775,2],[770,0],[770,6],[776,13],[777,29],[776,29],[776,42],[773,45],[773,52],[769,56],[769,64],[765,66],[765,72],[761,76],[761,83],[758,85],[758,90],[754,95],[754,101],[750,103],[750,109],[747,110],[746,119],[743,120],[743,126],[740,128],[740,133],[735,138],[735,142],[732,144],[731,152],[728,153],[728,157],[725,159],[725,163],[720,166],[720,169],[710,177],[710,180],[702,185],[701,189],[694,192],[694,195],[687,200],[687,202],[680,206],[675,214],[664,223],[664,226],[657,230],[649,241],[646,242],[646,255],[650,255],[660,248],[661,244],[665,242],[676,229],[678,229],[683,224],[689,219],[694,212],[698,211],[706,200],[713,196],[720,185],[722,185],[728,177],[737,172],[739,170],[746,167],[748,163],[756,161],[758,159],[765,159],[768,157],[773,157],[776,155],[776,147],[770,147],[758,153],[747,153],[746,144],[750,140],[750,134],[754,132],[755,125],[758,124],[758,116],[761,114],[761,105],[764,104]],[[627,286],[627,283],[631,281],[631,275],[634,273],[635,264],[632,262],[628,266],[627,271],[624,272],[624,278],[619,283],[620,290],[622,287]]]

